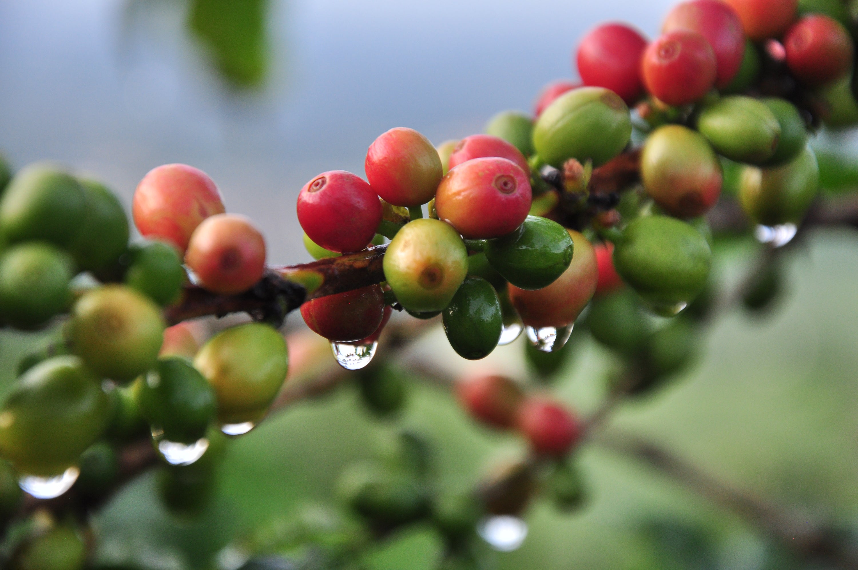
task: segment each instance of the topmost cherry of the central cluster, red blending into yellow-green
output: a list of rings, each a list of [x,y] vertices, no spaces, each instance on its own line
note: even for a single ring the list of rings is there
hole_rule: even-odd
[[[364,170],[372,189],[394,206],[429,202],[444,175],[441,158],[429,139],[404,127],[390,129],[373,141]]]

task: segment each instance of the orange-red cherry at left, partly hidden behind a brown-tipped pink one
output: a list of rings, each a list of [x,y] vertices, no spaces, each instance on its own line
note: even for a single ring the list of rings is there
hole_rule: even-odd
[[[142,236],[168,241],[182,254],[200,222],[225,211],[212,179],[185,164],[165,164],[150,170],[137,185],[131,203],[134,223]]]

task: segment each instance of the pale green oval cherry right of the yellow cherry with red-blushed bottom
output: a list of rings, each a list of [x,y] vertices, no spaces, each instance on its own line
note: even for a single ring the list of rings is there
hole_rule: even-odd
[[[781,124],[762,101],[732,95],[706,106],[697,123],[716,151],[731,161],[761,164],[775,154]]]

